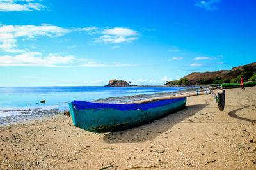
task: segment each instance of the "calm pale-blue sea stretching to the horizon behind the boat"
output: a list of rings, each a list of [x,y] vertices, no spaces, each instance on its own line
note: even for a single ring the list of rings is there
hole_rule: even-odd
[[[133,96],[183,90],[181,87],[0,87],[0,124],[7,117],[40,115],[52,109],[68,110],[72,100],[93,101],[107,97]],[[40,103],[45,100],[45,104]],[[3,122],[3,121],[2,121]]]

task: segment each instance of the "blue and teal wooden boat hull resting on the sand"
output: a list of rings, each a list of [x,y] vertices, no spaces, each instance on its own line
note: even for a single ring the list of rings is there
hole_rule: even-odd
[[[86,101],[69,103],[73,124],[90,132],[115,132],[163,117],[186,105],[186,97],[148,103],[107,104]]]

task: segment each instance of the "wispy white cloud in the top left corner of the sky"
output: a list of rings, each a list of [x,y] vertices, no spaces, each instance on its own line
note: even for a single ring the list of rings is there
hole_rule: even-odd
[[[0,11],[35,11],[45,8],[40,3],[30,3],[34,0],[0,0]]]

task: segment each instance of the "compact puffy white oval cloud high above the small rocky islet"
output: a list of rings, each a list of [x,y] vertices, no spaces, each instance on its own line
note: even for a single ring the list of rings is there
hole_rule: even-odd
[[[138,39],[138,37],[136,37],[138,35],[137,31],[121,27],[104,29],[104,31],[102,31],[102,34],[104,35],[96,38],[96,43],[124,43]]]

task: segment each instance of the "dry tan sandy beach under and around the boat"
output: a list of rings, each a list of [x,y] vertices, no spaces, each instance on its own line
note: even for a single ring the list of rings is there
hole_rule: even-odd
[[[256,169],[256,87],[227,89],[146,125],[109,134],[58,116],[0,127],[0,169]]]

